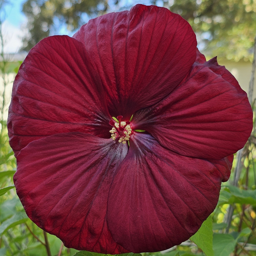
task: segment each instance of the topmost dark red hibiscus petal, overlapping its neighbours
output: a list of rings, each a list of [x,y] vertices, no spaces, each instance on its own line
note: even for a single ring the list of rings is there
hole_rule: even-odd
[[[95,61],[112,116],[130,118],[167,96],[196,58],[196,38],[180,15],[136,5],[90,20],[74,35]]]

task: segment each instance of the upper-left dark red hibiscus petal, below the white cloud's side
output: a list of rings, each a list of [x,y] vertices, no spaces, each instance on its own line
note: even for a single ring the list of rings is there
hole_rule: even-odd
[[[109,138],[110,118],[96,67],[81,42],[53,36],[29,52],[15,78],[9,108],[15,155],[29,142],[55,133]]]

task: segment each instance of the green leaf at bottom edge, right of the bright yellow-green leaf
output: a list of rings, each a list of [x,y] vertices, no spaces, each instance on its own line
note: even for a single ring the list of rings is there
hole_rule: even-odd
[[[235,249],[237,239],[229,234],[213,234],[214,256],[230,255]]]

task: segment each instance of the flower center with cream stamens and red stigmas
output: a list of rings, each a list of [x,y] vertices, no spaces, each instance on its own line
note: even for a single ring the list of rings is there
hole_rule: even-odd
[[[131,122],[121,122],[122,116],[117,116],[118,122],[114,122],[113,120],[109,121],[109,124],[113,126],[113,128],[109,131],[111,133],[111,138],[113,140],[118,140],[119,143],[125,144],[126,141],[129,140],[130,135],[132,133]]]

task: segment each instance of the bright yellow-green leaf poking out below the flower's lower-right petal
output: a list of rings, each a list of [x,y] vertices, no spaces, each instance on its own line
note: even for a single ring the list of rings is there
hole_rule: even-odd
[[[206,256],[213,256],[212,234],[212,217],[210,215],[190,240],[193,241]]]

